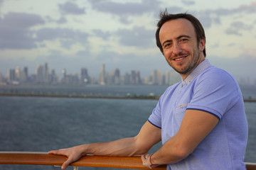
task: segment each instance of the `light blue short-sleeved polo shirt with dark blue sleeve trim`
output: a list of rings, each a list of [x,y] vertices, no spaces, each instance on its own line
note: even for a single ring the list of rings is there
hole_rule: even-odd
[[[235,79],[204,60],[184,81],[169,86],[149,117],[149,123],[161,128],[163,144],[176,135],[188,109],[215,115],[219,122],[193,153],[167,169],[245,169],[248,127]]]

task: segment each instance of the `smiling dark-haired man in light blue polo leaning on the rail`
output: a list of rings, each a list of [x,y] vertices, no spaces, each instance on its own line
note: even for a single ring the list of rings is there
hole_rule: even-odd
[[[245,169],[247,119],[235,79],[210,65],[201,23],[187,13],[161,13],[156,44],[182,81],[159,99],[135,137],[51,151],[68,157],[62,168],[82,155],[132,157],[143,165],[167,169]],[[154,154],[149,149],[162,141]]]

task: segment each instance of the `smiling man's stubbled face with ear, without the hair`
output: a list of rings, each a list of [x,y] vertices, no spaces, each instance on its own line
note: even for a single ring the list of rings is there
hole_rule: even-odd
[[[183,79],[205,59],[205,40],[198,44],[192,23],[184,18],[164,23],[159,38],[166,61]]]

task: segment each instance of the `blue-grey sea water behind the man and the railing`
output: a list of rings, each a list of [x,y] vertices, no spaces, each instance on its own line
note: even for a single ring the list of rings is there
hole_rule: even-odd
[[[167,86],[0,86],[0,91],[127,96],[153,93]],[[256,98],[256,88],[242,88]],[[48,152],[90,142],[133,137],[156,106],[156,100],[0,96],[0,151]],[[256,103],[245,103],[249,138],[245,162],[256,162]],[[161,145],[156,145],[154,152]],[[60,169],[55,166],[0,165],[1,170]],[[73,169],[69,167],[68,169]],[[79,167],[79,169],[102,169]],[[108,168],[106,168],[108,169]]]

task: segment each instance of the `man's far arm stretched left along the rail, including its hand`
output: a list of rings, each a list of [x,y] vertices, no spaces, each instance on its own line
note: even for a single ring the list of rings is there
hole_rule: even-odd
[[[112,157],[132,157],[146,154],[149,149],[161,141],[161,129],[151,125],[148,121],[142,126],[139,134],[135,137],[128,137],[112,142],[101,142],[79,145],[68,149],[53,150],[49,154],[61,154],[68,157],[63,163],[62,169],[68,167],[72,162],[77,161],[86,154],[112,156]]]

